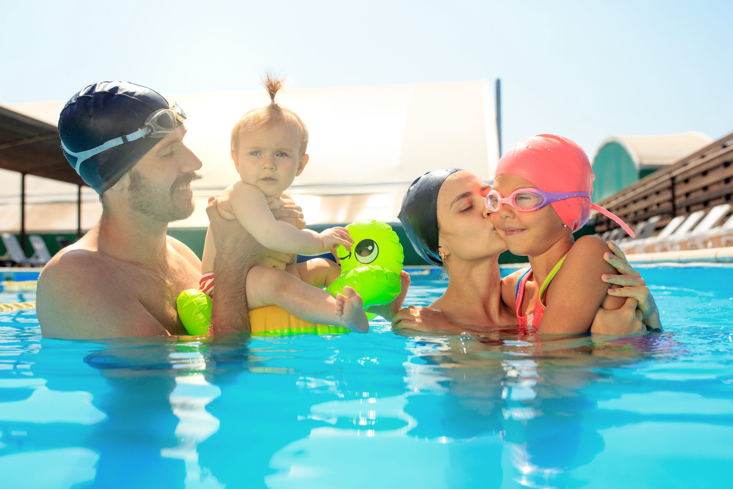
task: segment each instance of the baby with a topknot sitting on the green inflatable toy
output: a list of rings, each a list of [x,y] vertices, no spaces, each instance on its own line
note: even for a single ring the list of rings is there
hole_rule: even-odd
[[[267,75],[263,81],[270,95],[268,106],[252,109],[232,129],[232,159],[241,180],[219,197],[222,217],[237,220],[262,246],[288,254],[317,255],[347,249],[353,240],[343,227],[317,233],[276,221],[270,204],[289,198],[284,191],[308,163],[308,128],[294,112],[279,106],[275,95],[282,80]],[[201,290],[213,293],[216,249],[207,233],[202,259]],[[311,323],[343,326],[366,333],[369,322],[361,297],[351,287],[333,295],[320,287],[331,284],[341,269],[331,260],[314,259],[287,265],[283,270],[256,266],[248,272],[248,309],[276,305]]]

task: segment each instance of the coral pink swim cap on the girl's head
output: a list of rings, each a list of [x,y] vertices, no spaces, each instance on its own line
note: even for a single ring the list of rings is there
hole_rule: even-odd
[[[574,141],[554,134],[539,134],[512,146],[499,160],[495,177],[504,173],[529,180],[546,192],[593,194],[595,175],[586,152]],[[633,231],[624,221],[603,207],[591,204],[589,197],[570,197],[550,205],[574,232],[588,222],[591,210],[598,210],[614,219],[633,238]]]

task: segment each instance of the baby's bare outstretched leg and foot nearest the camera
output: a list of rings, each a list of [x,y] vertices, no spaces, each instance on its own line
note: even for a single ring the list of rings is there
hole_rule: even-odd
[[[347,287],[334,297],[277,268],[253,267],[247,274],[247,308],[280,306],[290,314],[315,324],[332,324],[366,333],[369,321],[361,297]]]

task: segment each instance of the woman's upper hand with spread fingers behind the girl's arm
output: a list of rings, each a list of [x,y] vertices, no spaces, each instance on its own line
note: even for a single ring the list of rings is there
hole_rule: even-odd
[[[616,246],[616,243],[609,241],[608,248],[611,253],[603,254],[603,259],[613,265],[619,271],[619,275],[604,273],[601,280],[607,284],[621,286],[615,289],[609,288],[608,295],[635,298],[638,301],[637,307],[641,311],[641,321],[652,329],[662,329],[657,304],[646,282],[641,278],[641,274],[629,265],[626,255]]]

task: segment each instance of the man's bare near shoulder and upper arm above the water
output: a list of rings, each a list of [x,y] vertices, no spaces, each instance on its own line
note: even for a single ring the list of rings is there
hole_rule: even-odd
[[[44,337],[169,335],[137,298],[110,279],[116,273],[109,266],[91,251],[71,250],[43,268],[36,312]]]

